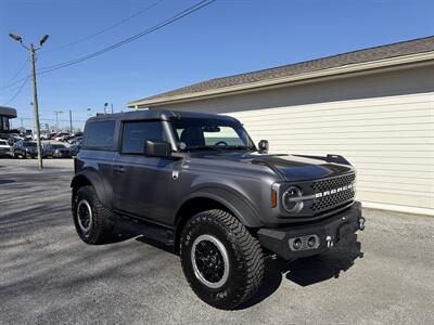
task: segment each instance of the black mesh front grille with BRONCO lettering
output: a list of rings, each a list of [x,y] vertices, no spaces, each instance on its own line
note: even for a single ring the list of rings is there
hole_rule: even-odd
[[[314,203],[311,210],[315,214],[331,210],[354,199],[354,173],[312,182]],[[350,187],[348,188],[348,185]]]

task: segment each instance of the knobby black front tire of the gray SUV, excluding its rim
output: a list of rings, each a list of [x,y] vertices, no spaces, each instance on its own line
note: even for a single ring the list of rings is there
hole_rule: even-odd
[[[205,285],[194,273],[192,247],[201,235],[216,237],[228,252],[229,275],[218,288]],[[237,309],[258,291],[264,277],[265,261],[259,242],[235,217],[224,210],[203,211],[187,222],[180,238],[180,257],[193,291],[218,309]]]

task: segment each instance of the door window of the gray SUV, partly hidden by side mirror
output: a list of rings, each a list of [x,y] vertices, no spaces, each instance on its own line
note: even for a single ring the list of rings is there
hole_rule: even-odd
[[[146,140],[167,141],[161,121],[125,122],[122,153],[142,154]]]

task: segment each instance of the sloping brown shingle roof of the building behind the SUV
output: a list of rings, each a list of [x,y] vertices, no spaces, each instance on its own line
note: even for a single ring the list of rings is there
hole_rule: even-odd
[[[130,103],[130,105],[133,104],[135,102],[151,101],[151,100],[170,98],[181,94],[193,94],[207,90],[245,84],[263,80],[271,80],[282,77],[290,77],[299,74],[340,67],[348,64],[384,60],[384,58],[391,58],[396,56],[410,55],[430,51],[434,51],[434,36],[347,52],[343,54],[332,55],[328,57],[263,69],[246,74],[210,79],[207,81],[202,81],[188,87],[149,96],[142,100],[137,100]]]

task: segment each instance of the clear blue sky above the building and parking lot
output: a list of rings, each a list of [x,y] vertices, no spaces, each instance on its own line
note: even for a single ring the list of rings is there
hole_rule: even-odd
[[[0,0],[0,105],[17,109],[22,119],[14,127],[23,121],[31,128],[31,83],[17,82],[29,74],[29,55],[9,32],[25,44],[50,35],[37,52],[36,67],[43,69],[137,35],[199,1]],[[113,51],[38,76],[41,123],[54,125],[54,112],[63,112],[60,126],[66,127],[71,109],[74,126],[82,128],[104,103],[125,112],[130,101],[212,78],[432,36],[433,16],[432,0],[217,0]]]

